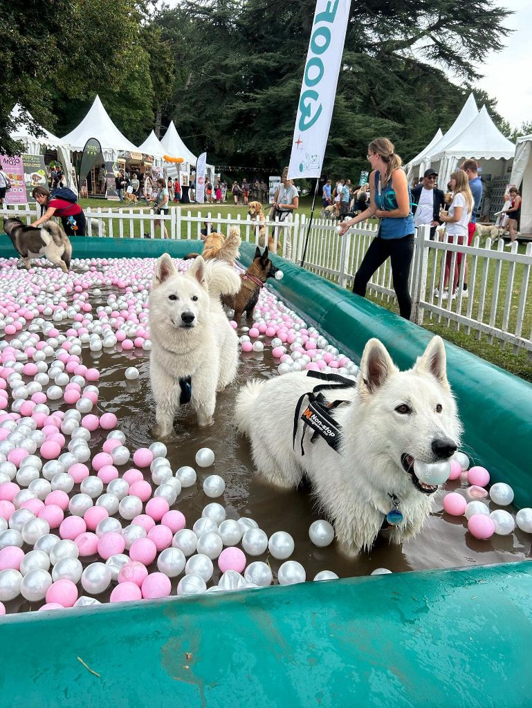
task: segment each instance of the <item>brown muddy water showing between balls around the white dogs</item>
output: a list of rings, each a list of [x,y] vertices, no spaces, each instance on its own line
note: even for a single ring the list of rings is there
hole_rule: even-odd
[[[94,308],[106,302],[98,298],[93,300]],[[67,329],[64,327],[63,329]],[[261,336],[262,338],[262,336]],[[267,345],[269,340],[264,339]],[[147,447],[155,438],[150,433],[154,420],[154,400],[149,388],[149,356],[142,350],[133,352],[118,350],[92,353],[86,346],[83,349],[83,363],[96,366],[101,372],[98,382],[100,398],[98,409],[100,413],[112,411],[118,416],[118,429],[125,433],[125,445],[131,452],[137,447]],[[136,366],[140,377],[135,382],[125,379],[125,369]],[[454,518],[443,513],[441,501],[437,502],[434,513],[427,521],[421,535],[415,539],[397,546],[387,541],[385,533],[379,537],[373,549],[363,553],[356,559],[346,559],[333,543],[327,548],[315,547],[308,537],[308,528],[312,521],[319,518],[312,503],[308,486],[286,491],[276,489],[266,484],[253,471],[249,443],[236,431],[233,421],[234,395],[239,386],[253,377],[269,378],[276,375],[276,365],[271,357],[271,347],[266,346],[261,353],[242,353],[236,382],[217,398],[215,423],[210,428],[198,428],[196,416],[186,406],[176,418],[174,439],[165,441],[168,447],[169,461],[175,471],[182,465],[191,465],[198,472],[196,484],[183,489],[173,508],[183,512],[187,527],[201,515],[203,507],[211,501],[225,506],[227,518],[251,517],[269,535],[278,530],[288,531],[295,540],[295,552],[292,559],[300,561],[307,571],[307,580],[312,580],[315,574],[322,570],[330,570],[341,578],[349,576],[368,575],[376,568],[384,567],[394,573],[420,569],[451,568],[476,564],[496,564],[527,559],[531,556],[532,536],[516,529],[509,536],[494,535],[488,541],[473,538],[467,530],[464,517]],[[49,402],[51,410],[60,409],[58,401]],[[64,402],[62,403],[64,406]],[[96,412],[96,411],[93,411]],[[280,435],[291,435],[291,430],[279,431]],[[91,438],[93,454],[101,451],[101,445],[106,439],[104,431],[96,431]],[[200,447],[210,447],[215,452],[215,464],[207,469],[197,467],[195,455]],[[86,464],[89,464],[86,463]],[[134,466],[132,462],[119,467],[120,473]],[[149,470],[144,470],[149,481]],[[217,499],[210,499],[203,493],[203,480],[209,474],[220,474],[226,483],[225,493]],[[460,491],[466,496],[465,481],[448,482],[447,491]],[[72,496],[79,491],[79,485],[74,486]],[[468,500],[469,501],[469,500]],[[490,504],[492,510],[498,508]],[[515,515],[515,509],[509,508]],[[130,522],[123,522],[127,525]],[[24,548],[26,552],[30,548]],[[100,560],[97,556],[83,559],[84,566]],[[276,571],[283,561],[277,561],[268,553],[264,556],[249,559],[267,561]],[[217,583],[220,573],[214,561],[215,574],[213,581]],[[149,571],[157,571],[154,564]],[[182,576],[180,576],[182,577]],[[179,578],[172,581],[172,594],[175,593]],[[274,582],[276,582],[274,580]],[[98,595],[99,600],[107,600],[111,588],[106,593]],[[80,594],[85,594],[80,587]],[[30,604],[19,597],[11,603],[5,603],[8,612],[35,610],[43,603]]]

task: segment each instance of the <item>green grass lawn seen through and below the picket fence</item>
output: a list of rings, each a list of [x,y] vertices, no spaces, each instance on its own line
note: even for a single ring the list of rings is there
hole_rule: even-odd
[[[81,206],[86,210],[86,207],[91,207],[91,210],[96,210],[98,207],[101,207],[103,211],[107,211],[108,209],[111,209],[113,211],[118,211],[120,208],[123,209],[124,212],[128,212],[130,207],[128,205],[120,205],[119,202],[111,202],[111,201],[106,201],[106,200],[100,200],[100,199],[81,199],[79,200]],[[311,211],[311,205],[312,205],[312,198],[310,196],[303,197],[300,199],[300,208],[298,209],[298,214],[302,215],[305,214],[305,217],[310,217],[310,211]],[[134,211],[138,211],[139,208],[137,207],[134,209]],[[316,206],[315,206],[315,218],[319,216],[319,212],[321,211],[321,198],[317,198],[316,201]],[[246,219],[247,217],[247,207],[244,205],[238,205],[235,206],[231,202],[225,202],[225,204],[203,204],[203,205],[196,205],[196,204],[188,204],[188,205],[182,205],[181,206],[181,212],[183,215],[186,215],[188,212],[191,212],[192,216],[196,216],[200,214],[202,217],[207,216],[208,212],[211,213],[213,217],[216,217],[218,213],[222,215],[222,217],[226,217],[227,214],[229,213],[232,217],[240,215],[241,219]],[[114,236],[119,236],[119,219],[113,219],[113,235]],[[140,222],[137,222],[136,220],[132,222],[133,228],[134,228],[134,234],[135,237],[139,237],[141,234],[141,229],[140,229]],[[145,224],[147,227],[147,224]],[[124,224],[124,236],[129,236],[129,224],[126,222]],[[145,229],[147,231],[147,228]],[[196,232],[193,230],[192,231],[192,238],[195,238]],[[108,234],[109,235],[109,234]],[[186,238],[186,224],[181,224],[181,238]],[[526,249],[526,244],[520,244],[519,245],[519,253],[525,253]],[[336,258],[338,257],[338,253],[334,249],[332,249],[329,252],[329,257],[331,259],[331,262],[334,262]],[[436,255],[440,255],[437,253]],[[472,267],[472,258],[469,259],[470,261],[470,268]],[[431,288],[431,277],[432,273],[434,271],[434,268],[436,267],[436,284],[438,282],[438,274],[439,274],[439,260],[438,263],[435,263],[435,258],[434,254],[432,254],[432,257],[429,258],[429,272],[428,272],[428,277],[427,277],[427,290],[426,290],[426,299],[429,297],[429,289]],[[386,263],[385,266],[385,282],[387,282],[388,274],[389,274],[389,269],[390,269],[390,263]],[[353,261],[351,262],[351,268],[350,272],[353,273],[353,270],[355,270],[355,263]],[[497,301],[496,307],[495,307],[495,325],[501,327],[503,325],[503,313],[504,313],[504,302],[506,299],[506,293],[507,293],[507,287],[509,283],[509,264],[508,263],[503,263],[502,268],[500,270],[499,274],[499,287],[498,287],[498,292],[499,292],[499,299]],[[523,279],[523,265],[516,265],[515,270],[514,270],[514,278],[512,282],[512,292],[511,292],[511,308],[510,308],[510,314],[509,314],[509,321],[507,324],[507,329],[509,331],[514,330],[514,326],[516,324],[516,319],[517,319],[517,313],[518,313],[518,307],[519,307],[519,295],[521,292],[521,285],[522,285],[522,279]],[[470,272],[469,278],[468,278],[470,284],[472,281],[472,274]],[[486,320],[487,316],[489,316],[489,313],[491,312],[492,308],[492,293],[494,292],[495,289],[495,282],[496,282],[496,272],[495,272],[495,267],[494,263],[490,264],[488,273],[487,273],[487,285],[486,285],[486,291],[489,293],[488,297],[486,298],[485,302],[485,314],[484,314],[484,319]],[[473,307],[472,307],[472,316],[476,316],[479,311],[480,307],[480,291],[482,287],[482,261],[479,259],[479,264],[477,267],[477,275],[475,278],[475,287],[474,290],[470,292],[470,298],[472,298],[473,302]],[[392,312],[397,312],[398,313],[398,308],[397,308],[397,303],[395,302],[395,299],[388,299],[387,297],[381,297],[380,295],[375,295],[372,294],[368,291],[368,299],[372,300],[373,302],[376,302],[379,304],[381,307],[385,307],[386,309],[390,309]],[[467,307],[468,301],[463,300],[462,304],[462,312],[465,313],[466,307]],[[445,304],[444,304],[445,307]],[[453,304],[453,309],[455,309],[455,305]],[[467,349],[468,351],[476,354],[477,356],[480,356],[481,358],[492,362],[493,364],[502,367],[503,369],[506,369],[507,371],[523,378],[528,381],[532,382],[532,359],[529,357],[528,353],[525,350],[518,350],[517,352],[514,352],[514,347],[506,344],[506,346],[502,346],[502,343],[494,340],[494,341],[489,341],[489,338],[485,335],[479,335],[479,333],[475,332],[470,332],[466,333],[465,330],[463,329],[463,326],[458,326],[455,323],[452,323],[447,326],[446,322],[441,319],[441,321],[438,322],[438,316],[433,316],[432,319],[429,316],[429,313],[425,313],[424,316],[424,328],[434,332],[435,334],[441,335],[443,338],[447,339],[450,342],[453,342],[454,344]],[[532,329],[532,298],[527,297],[526,300],[526,309],[525,309],[525,316],[523,319],[523,334],[524,336],[527,336]]]

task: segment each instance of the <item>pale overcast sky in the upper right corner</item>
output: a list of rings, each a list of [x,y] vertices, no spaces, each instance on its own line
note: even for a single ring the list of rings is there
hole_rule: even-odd
[[[484,74],[479,88],[497,99],[497,110],[512,127],[519,127],[523,122],[532,121],[532,2],[499,0],[497,4],[514,11],[504,25],[515,31],[504,38],[506,48],[502,52],[489,52],[489,47],[477,48],[480,58],[477,66]]]

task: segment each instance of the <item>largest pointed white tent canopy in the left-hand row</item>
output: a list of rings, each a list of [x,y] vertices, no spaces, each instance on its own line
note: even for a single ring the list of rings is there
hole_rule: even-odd
[[[101,150],[106,160],[114,161],[118,152],[142,152],[118,130],[109,118],[106,109],[103,108],[99,96],[96,96],[89,113],[81,123],[72,132],[65,135],[63,140],[70,144],[72,151],[81,152],[91,137],[100,141]]]

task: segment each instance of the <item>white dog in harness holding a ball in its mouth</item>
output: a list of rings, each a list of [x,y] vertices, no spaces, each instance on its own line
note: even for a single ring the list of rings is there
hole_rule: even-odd
[[[329,401],[347,402],[332,411],[342,431],[339,453],[322,438],[310,442],[310,428],[302,456],[303,423],[293,445],[294,413],[300,396],[320,383],[300,372],[255,380],[239,391],[236,422],[251,439],[256,468],[283,487],[298,486],[307,474],[346,554],[369,549],[394,507],[403,521],[390,539],[399,543],[417,534],[438,486],[417,479],[414,460],[449,459],[461,432],[443,341],[432,338],[416,365],[400,372],[383,344],[370,339],[356,389],[324,392]]]

